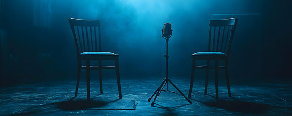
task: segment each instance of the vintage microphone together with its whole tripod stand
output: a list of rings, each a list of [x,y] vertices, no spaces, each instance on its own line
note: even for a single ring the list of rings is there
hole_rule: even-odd
[[[159,96],[159,94],[161,93],[161,91],[169,91],[169,83],[175,87],[180,93],[181,95],[184,96],[184,98],[190,103],[192,104],[192,101],[190,101],[185,95],[184,93],[178,89],[178,87],[176,87],[172,81],[169,79],[169,75],[168,75],[168,59],[169,59],[169,54],[168,54],[168,41],[169,41],[169,38],[172,36],[172,29],[171,29],[171,24],[170,23],[165,23],[163,25],[163,29],[161,30],[162,31],[162,38],[165,39],[166,41],[166,54],[164,55],[164,57],[166,58],[166,78],[163,79],[162,81],[162,84],[157,88],[157,90],[154,92],[154,94],[148,99],[148,102],[150,102],[150,100],[152,99],[152,97],[156,94],[153,102],[151,103],[151,106],[154,105],[154,102],[156,100],[156,98]],[[167,85],[167,90],[163,90],[164,86]],[[169,92],[172,92],[172,91],[169,91]],[[173,92],[175,93],[175,92]]]

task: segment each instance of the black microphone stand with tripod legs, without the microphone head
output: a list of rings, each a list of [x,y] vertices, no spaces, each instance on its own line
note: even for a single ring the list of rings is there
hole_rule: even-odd
[[[164,57],[166,58],[166,78],[165,79],[163,79],[163,81],[162,81],[162,84],[157,88],[157,90],[154,92],[154,94],[148,99],[148,102],[150,102],[150,100],[154,97],[154,95],[156,94],[156,96],[155,96],[155,98],[154,98],[154,100],[153,100],[153,102],[151,103],[151,106],[153,106],[154,105],[154,102],[156,101],[156,98],[160,95],[160,93],[161,93],[161,91],[169,91],[169,82],[170,82],[170,84],[173,86],[173,87],[175,87],[180,93],[181,93],[181,95],[183,95],[184,96],[184,98],[190,103],[190,104],[192,104],[192,101],[190,101],[185,95],[184,95],[184,93],[180,90],[180,89],[178,89],[178,87],[176,87],[173,83],[172,83],[172,81],[169,79],[169,68],[168,68],[168,61],[169,61],[169,54],[168,54],[168,41],[169,41],[169,38],[172,36],[172,29],[171,29],[171,35],[169,36],[169,37],[163,37],[163,29],[161,30],[162,31],[162,38],[164,38],[165,39],[165,41],[166,41],[166,54],[164,55]],[[167,90],[163,90],[163,88],[165,87],[165,85],[167,85]],[[175,93],[175,92],[173,92],[173,91],[169,91],[169,92],[172,92],[172,93]]]

